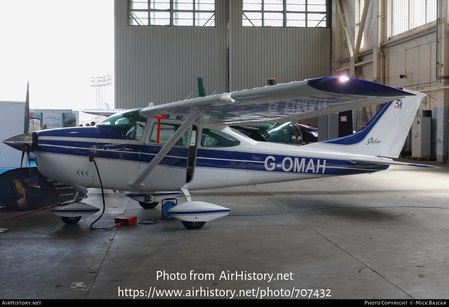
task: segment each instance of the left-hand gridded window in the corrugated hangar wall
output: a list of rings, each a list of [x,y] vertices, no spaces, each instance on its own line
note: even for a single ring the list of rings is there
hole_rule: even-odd
[[[215,0],[128,0],[128,25],[215,26]]]

